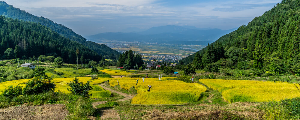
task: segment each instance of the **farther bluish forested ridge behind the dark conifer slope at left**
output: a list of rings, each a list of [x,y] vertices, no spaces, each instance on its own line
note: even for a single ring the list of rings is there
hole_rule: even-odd
[[[18,8],[13,7],[12,5],[8,5],[4,1],[0,1],[0,14],[13,19],[20,19],[24,21],[40,23],[41,25],[49,27],[53,31],[58,32],[59,35],[65,38],[69,38],[70,40],[76,41],[80,44],[89,47],[91,50],[98,52],[99,55],[107,55],[107,58],[110,59],[117,59],[119,57],[119,52],[111,49],[110,47],[104,44],[97,44],[92,41],[86,41],[85,38],[83,38],[81,35],[76,34],[66,26],[54,23],[50,19],[44,18],[43,16],[38,17],[27,13],[24,10],[20,10]]]

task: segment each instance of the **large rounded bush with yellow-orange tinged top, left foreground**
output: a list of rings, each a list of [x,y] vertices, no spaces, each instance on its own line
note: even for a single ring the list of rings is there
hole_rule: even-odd
[[[23,94],[32,95],[54,91],[56,85],[51,80],[52,78],[46,76],[35,76],[25,83]]]

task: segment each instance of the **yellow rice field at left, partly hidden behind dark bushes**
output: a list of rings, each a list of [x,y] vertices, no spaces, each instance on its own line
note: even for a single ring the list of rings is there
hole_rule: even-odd
[[[70,93],[70,91],[67,90],[67,88],[70,88],[67,83],[69,83],[70,81],[72,81],[75,78],[54,78],[53,82],[56,85],[55,90],[56,91],[61,91],[63,93]],[[92,90],[89,91],[90,94],[92,94],[91,98],[105,98],[105,97],[110,97],[111,92],[104,90],[103,88],[101,88],[98,84],[101,84],[105,81],[107,81],[108,78],[98,78],[98,79],[94,79],[92,80],[91,77],[80,77],[79,81],[86,83],[87,81],[90,81],[90,85],[92,86]],[[24,86],[24,82],[27,82],[29,79],[19,79],[19,80],[13,80],[13,81],[7,81],[7,82],[0,82],[0,92],[4,91],[4,89],[6,88],[6,86],[9,85],[22,85]]]

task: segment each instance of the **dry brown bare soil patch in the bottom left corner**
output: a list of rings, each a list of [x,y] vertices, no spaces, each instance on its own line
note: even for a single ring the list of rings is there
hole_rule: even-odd
[[[64,120],[68,114],[63,104],[22,105],[0,109],[0,120]]]

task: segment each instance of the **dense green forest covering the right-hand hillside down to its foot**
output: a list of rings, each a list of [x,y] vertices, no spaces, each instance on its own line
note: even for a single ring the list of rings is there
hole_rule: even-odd
[[[283,0],[247,26],[222,36],[180,63],[193,62],[199,69],[226,63],[233,68],[284,73],[290,71],[289,65],[299,62],[299,47],[300,0]]]

